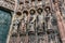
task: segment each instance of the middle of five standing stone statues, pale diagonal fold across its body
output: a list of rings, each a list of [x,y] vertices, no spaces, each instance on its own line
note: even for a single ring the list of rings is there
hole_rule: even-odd
[[[29,30],[35,31],[36,11],[30,10]]]

